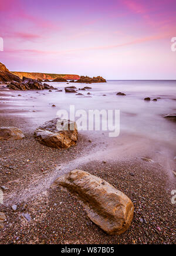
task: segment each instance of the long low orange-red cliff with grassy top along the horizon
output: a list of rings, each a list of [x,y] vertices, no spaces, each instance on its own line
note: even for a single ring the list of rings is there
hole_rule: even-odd
[[[49,79],[53,80],[56,78],[64,78],[66,80],[78,80],[80,79],[79,75],[65,75],[65,74],[49,74],[49,73],[29,73],[29,72],[11,72],[13,75],[19,76],[19,78],[23,78],[25,76],[26,78],[31,79]]]

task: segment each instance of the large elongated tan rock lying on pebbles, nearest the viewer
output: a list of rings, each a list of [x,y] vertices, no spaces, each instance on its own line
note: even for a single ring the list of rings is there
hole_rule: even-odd
[[[134,206],[130,198],[99,177],[73,170],[57,178],[51,188],[67,188],[86,208],[88,217],[109,235],[124,233],[131,224]]]

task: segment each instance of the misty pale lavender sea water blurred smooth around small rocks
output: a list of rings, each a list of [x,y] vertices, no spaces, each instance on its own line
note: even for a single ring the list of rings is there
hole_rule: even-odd
[[[48,92],[48,90],[20,92],[22,95],[22,109],[37,109],[40,113],[33,113],[33,121],[42,123],[56,117],[59,109],[69,110],[70,105],[75,109],[117,109],[120,110],[120,133],[128,132],[138,136],[155,139],[159,142],[176,144],[176,123],[164,119],[163,115],[176,113],[176,81],[175,80],[108,80],[107,83],[52,83],[63,92]],[[90,86],[90,90],[79,90],[84,96],[75,93],[65,93],[64,87],[76,86],[77,89]],[[91,95],[87,95],[90,92]],[[117,96],[117,92],[126,96]],[[19,92],[13,92],[18,94]],[[106,95],[106,96],[103,96]],[[32,97],[32,98],[31,98]],[[145,102],[144,97],[151,97],[151,102]],[[157,102],[152,99],[161,97]],[[26,99],[25,105],[23,100]],[[19,107],[20,101],[14,101],[14,107]],[[56,108],[52,105],[55,104]],[[31,113],[31,112],[30,112]],[[30,113],[25,113],[30,116]],[[35,117],[36,116],[36,117]]]

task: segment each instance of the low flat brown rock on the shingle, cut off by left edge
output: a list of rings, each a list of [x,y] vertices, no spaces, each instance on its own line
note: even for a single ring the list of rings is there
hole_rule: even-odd
[[[24,137],[16,127],[0,127],[0,140],[22,140]]]

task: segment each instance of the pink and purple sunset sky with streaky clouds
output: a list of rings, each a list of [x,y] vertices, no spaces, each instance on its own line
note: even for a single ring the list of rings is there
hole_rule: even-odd
[[[174,79],[175,0],[0,0],[11,71]]]

